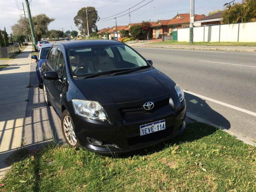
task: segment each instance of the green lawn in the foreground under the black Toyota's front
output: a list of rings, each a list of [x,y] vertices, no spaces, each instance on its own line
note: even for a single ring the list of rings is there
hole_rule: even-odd
[[[17,159],[18,158],[18,159]],[[52,144],[19,150],[4,192],[255,192],[256,148],[202,123],[170,142],[118,156]]]

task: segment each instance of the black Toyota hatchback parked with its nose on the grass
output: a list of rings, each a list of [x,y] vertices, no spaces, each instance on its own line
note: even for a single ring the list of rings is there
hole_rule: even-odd
[[[185,128],[182,88],[121,42],[54,44],[42,77],[45,101],[61,117],[70,146],[124,153],[169,140]]]

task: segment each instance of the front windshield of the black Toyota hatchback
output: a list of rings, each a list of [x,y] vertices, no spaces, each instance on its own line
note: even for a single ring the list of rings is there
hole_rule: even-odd
[[[140,55],[123,44],[71,48],[68,56],[74,76],[148,66]]]

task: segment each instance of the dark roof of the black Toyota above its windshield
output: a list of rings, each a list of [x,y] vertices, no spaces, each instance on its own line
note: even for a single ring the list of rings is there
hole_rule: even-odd
[[[66,48],[80,48],[85,46],[94,46],[94,45],[114,45],[122,44],[114,40],[75,40],[75,41],[66,41],[58,42],[54,45],[65,46]]]

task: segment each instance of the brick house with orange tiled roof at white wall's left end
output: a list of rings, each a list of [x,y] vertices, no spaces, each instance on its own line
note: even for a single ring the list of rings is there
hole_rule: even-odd
[[[194,20],[199,20],[204,18],[204,15],[194,15]],[[177,14],[174,18],[170,20],[159,20],[151,26],[153,28],[153,38],[161,38],[162,36],[167,36],[173,30],[180,28],[189,27],[190,14]]]

